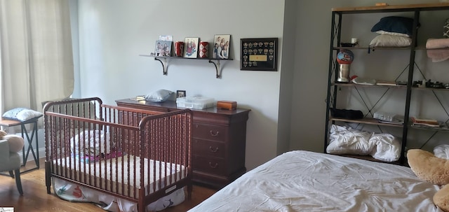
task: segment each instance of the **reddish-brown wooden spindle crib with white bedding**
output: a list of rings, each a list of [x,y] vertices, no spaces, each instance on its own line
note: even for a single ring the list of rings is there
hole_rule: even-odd
[[[107,211],[160,211],[192,195],[192,112],[145,111],[96,97],[44,108],[46,188]]]

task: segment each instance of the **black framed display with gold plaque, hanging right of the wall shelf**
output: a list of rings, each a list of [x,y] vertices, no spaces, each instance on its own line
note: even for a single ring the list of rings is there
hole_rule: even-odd
[[[278,38],[241,38],[240,70],[277,71]]]

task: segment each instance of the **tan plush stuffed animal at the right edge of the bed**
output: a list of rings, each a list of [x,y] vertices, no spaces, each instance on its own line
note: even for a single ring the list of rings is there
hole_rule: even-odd
[[[407,159],[410,169],[418,178],[436,185],[449,184],[449,160],[420,149],[408,150]],[[434,204],[449,212],[449,186],[443,186],[436,192]]]

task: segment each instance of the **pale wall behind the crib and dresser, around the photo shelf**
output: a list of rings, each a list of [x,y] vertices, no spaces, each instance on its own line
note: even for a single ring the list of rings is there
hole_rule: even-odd
[[[106,104],[115,104],[116,99],[163,88],[186,90],[187,96],[237,101],[239,107],[251,109],[246,166],[252,169],[276,156],[283,68],[240,71],[239,43],[240,38],[276,37],[281,46],[283,1],[186,2],[79,0],[80,96],[97,96]],[[154,50],[159,35],[212,42],[214,34],[232,35],[230,57],[234,60],[221,62],[221,79],[215,78],[215,68],[207,60],[170,60],[168,75],[163,76],[159,62],[139,56]]]

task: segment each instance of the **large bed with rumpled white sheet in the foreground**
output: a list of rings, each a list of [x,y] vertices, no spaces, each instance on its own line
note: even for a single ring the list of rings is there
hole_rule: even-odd
[[[248,171],[199,211],[441,211],[408,167],[295,150]]]

